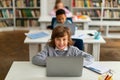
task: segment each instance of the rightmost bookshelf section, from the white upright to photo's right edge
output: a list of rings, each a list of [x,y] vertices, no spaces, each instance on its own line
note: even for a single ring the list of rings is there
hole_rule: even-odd
[[[103,20],[120,20],[120,0],[105,0],[103,5]]]

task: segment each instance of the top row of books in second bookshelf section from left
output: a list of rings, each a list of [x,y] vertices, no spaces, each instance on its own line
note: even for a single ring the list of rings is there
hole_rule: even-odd
[[[16,7],[40,7],[40,0],[16,0]]]

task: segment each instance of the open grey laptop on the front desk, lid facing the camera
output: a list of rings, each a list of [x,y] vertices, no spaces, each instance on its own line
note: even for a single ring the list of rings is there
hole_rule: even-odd
[[[48,77],[78,77],[82,75],[83,57],[48,57],[46,75]]]

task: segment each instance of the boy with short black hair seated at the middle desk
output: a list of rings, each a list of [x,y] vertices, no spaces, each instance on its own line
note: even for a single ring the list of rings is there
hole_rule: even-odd
[[[59,25],[69,27],[72,34],[75,33],[76,25],[74,25],[72,21],[67,20],[65,11],[63,9],[59,9],[56,11],[56,21],[53,24],[53,28],[55,28],[56,26],[59,26]]]

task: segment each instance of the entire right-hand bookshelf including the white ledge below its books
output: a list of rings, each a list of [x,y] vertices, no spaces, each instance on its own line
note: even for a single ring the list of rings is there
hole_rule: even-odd
[[[102,27],[105,36],[109,30],[120,30],[120,0],[71,0],[74,15],[88,15],[92,19],[89,26]]]

